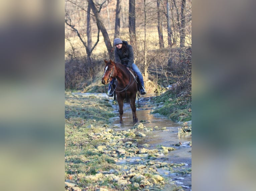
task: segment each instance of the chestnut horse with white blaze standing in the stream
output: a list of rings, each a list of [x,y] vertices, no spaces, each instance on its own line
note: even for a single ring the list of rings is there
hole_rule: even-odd
[[[119,117],[120,123],[123,122],[123,106],[124,99],[127,98],[129,100],[131,109],[132,109],[132,118],[133,122],[137,122],[137,114],[136,114],[136,94],[138,92],[138,87],[136,83],[136,77],[133,78],[126,68],[126,66],[122,64],[118,64],[110,61],[104,60],[106,63],[104,68],[104,74],[101,79],[101,83],[107,85],[113,78],[117,79],[117,85],[115,88],[116,99],[119,105]]]

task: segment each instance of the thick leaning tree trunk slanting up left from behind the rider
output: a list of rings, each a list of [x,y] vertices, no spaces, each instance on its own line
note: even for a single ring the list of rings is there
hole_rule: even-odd
[[[109,39],[109,36],[108,36],[108,32],[104,26],[104,22],[102,21],[101,19],[101,16],[93,2],[93,0],[87,0],[93,13],[94,13],[94,16],[96,18],[96,23],[97,23],[97,26],[99,27],[102,35],[103,35],[103,38],[104,38],[104,42],[105,42],[105,45],[107,47],[107,50],[108,50],[108,54],[109,54],[109,57],[110,59],[114,60],[114,49],[113,47],[111,46],[111,42],[110,42],[110,39]]]

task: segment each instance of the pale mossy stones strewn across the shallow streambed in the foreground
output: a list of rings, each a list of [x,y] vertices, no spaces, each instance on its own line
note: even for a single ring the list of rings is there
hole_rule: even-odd
[[[87,128],[93,128],[88,126]],[[191,182],[180,185],[184,177],[191,177],[191,167],[186,163],[161,162],[157,159],[176,150],[174,147],[159,146],[148,149],[149,144],[139,146],[137,137],[145,137],[145,132],[153,131],[142,123],[133,129],[114,131],[102,128],[100,132],[91,132],[92,139],[102,139],[97,148],[88,149],[92,155],[106,155],[108,160],[115,162],[115,168],[109,171],[99,170],[95,175],[82,177],[87,186],[79,188],[65,182],[66,188],[77,190],[190,190]],[[106,185],[105,185],[106,184]]]

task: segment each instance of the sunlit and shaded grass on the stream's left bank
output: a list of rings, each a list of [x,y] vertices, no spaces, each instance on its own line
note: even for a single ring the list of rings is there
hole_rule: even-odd
[[[112,157],[93,152],[106,140],[90,136],[90,133],[100,132],[109,123],[109,118],[115,116],[112,111],[107,99],[65,93],[65,179],[77,181],[99,170],[114,168]]]

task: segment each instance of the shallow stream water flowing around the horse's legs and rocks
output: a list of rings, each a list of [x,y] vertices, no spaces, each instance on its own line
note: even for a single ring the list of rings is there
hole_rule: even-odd
[[[79,94],[79,93],[77,93]],[[81,94],[81,95],[92,95],[92,94]],[[106,94],[94,94],[96,96],[106,96]],[[174,147],[176,150],[169,151],[168,154],[163,154],[156,161],[168,162],[168,163],[185,163],[185,167],[191,167],[191,147],[186,143],[191,141],[191,136],[189,137],[178,137],[178,128],[181,127],[181,124],[175,123],[172,120],[167,119],[164,116],[159,114],[152,114],[151,112],[155,109],[155,105],[151,104],[151,97],[154,95],[144,95],[139,98],[139,109],[137,107],[136,113],[138,120],[143,123],[147,128],[166,127],[166,130],[153,130],[148,132],[143,132],[146,134],[146,137],[136,137],[138,147],[142,148],[143,144],[147,143],[150,146],[146,147],[147,149],[159,149],[159,146]],[[113,130],[125,130],[131,129],[135,122],[132,119],[132,111],[130,104],[124,102],[124,114],[123,114],[123,123],[119,123],[119,112],[118,104],[113,103],[114,98],[108,97],[112,101],[112,106],[114,112],[117,113],[116,117],[110,119],[112,121]],[[138,100],[136,100],[138,104]],[[158,105],[161,106],[161,105]],[[117,109],[116,109],[117,108]],[[174,146],[174,144],[182,143],[181,146]],[[125,160],[119,161],[120,163],[135,163],[140,160],[139,157],[127,158]],[[179,173],[170,173],[167,170],[158,169],[160,175],[169,178],[169,182],[175,182],[177,186],[182,186],[186,191],[191,190],[191,175],[190,174],[179,174]],[[165,186],[164,191],[168,191],[168,186]]]

